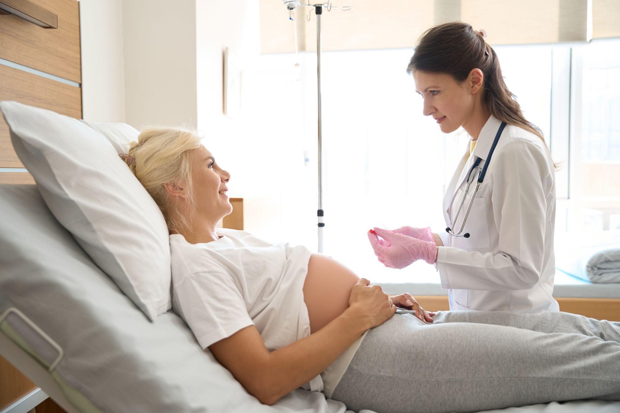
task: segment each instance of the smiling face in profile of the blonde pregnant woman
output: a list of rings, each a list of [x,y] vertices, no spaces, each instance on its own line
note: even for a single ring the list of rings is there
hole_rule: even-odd
[[[232,212],[226,195],[230,177],[204,146],[192,151],[192,185],[198,214],[219,221]]]

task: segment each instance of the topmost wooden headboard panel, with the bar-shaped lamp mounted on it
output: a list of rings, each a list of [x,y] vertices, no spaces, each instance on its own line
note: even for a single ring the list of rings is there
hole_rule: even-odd
[[[0,58],[81,83],[78,1],[29,1],[58,15],[58,28],[0,15]]]

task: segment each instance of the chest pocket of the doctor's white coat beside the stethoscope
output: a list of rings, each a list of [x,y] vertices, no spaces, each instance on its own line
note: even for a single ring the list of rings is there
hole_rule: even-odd
[[[461,199],[463,196],[463,189],[459,189],[457,199]],[[463,225],[463,219],[467,213],[467,207],[471,201],[471,194],[465,196],[465,202],[463,202],[463,208],[459,213],[458,220],[454,223],[453,230],[458,230]],[[461,248],[461,250],[477,250],[479,248],[489,248],[489,224],[487,222],[487,201],[484,198],[476,197],[467,215],[465,221],[464,233],[469,233],[469,238],[465,237],[453,237],[452,246]]]

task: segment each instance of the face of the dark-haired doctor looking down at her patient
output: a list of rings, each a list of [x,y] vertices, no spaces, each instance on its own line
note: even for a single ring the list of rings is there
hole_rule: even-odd
[[[424,99],[424,116],[433,116],[441,132],[451,133],[471,115],[474,98],[467,81],[459,84],[443,73],[414,71],[415,92]]]

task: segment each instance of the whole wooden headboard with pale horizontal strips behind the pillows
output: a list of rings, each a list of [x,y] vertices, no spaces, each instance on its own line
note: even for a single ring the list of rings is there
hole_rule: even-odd
[[[43,28],[17,15],[0,14],[0,100],[15,100],[82,118],[79,2],[11,0],[24,12],[56,15],[58,28]],[[33,13],[31,13],[33,14]],[[0,116],[0,183],[34,183],[24,170]]]

